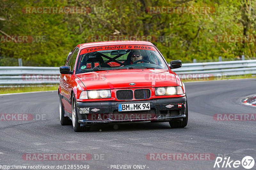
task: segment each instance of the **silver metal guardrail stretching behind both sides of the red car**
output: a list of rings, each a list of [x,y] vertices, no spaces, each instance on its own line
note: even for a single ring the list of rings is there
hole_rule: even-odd
[[[256,60],[185,63],[173,70],[184,77],[256,74]],[[59,83],[59,67],[0,67],[0,85]]]

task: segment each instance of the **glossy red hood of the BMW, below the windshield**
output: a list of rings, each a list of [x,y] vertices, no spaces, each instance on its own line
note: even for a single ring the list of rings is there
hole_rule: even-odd
[[[165,69],[108,70],[76,76],[87,90],[177,86],[175,75]]]

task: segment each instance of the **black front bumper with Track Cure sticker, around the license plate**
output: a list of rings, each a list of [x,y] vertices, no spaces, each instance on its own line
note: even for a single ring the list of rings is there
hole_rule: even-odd
[[[140,101],[76,102],[78,123],[121,123],[182,121],[186,117],[186,96]],[[150,103],[150,110],[118,111],[118,104]]]

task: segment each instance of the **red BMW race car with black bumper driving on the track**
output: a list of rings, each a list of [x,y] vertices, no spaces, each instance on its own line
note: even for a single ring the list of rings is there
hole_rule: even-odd
[[[169,122],[188,124],[184,83],[147,41],[79,44],[60,67],[60,124],[88,131],[92,123]]]

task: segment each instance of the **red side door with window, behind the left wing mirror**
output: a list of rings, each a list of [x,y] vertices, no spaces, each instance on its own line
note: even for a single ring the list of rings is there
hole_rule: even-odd
[[[76,47],[67,62],[67,66],[70,67],[70,71],[73,73],[74,73],[74,66],[76,63],[76,57],[77,57],[78,51],[79,51],[79,48]],[[71,90],[72,90],[71,76],[72,74],[63,74],[63,77],[62,77],[63,90],[61,90],[63,95],[62,103],[64,104],[65,110],[67,110],[69,113],[71,113],[71,96],[70,96]]]

